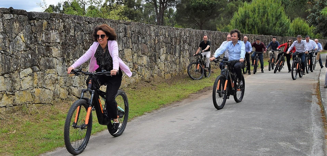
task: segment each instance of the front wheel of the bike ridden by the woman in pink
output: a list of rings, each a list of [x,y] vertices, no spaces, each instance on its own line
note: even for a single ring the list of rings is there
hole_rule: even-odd
[[[92,130],[92,111],[87,116],[88,104],[86,100],[79,99],[70,107],[64,126],[64,142],[70,154],[77,155],[83,152],[89,142]]]

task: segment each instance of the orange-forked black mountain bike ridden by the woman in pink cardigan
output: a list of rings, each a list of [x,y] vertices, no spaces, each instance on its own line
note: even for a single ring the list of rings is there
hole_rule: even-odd
[[[82,89],[81,97],[75,101],[70,107],[64,126],[64,142],[66,149],[69,153],[77,155],[83,152],[86,148],[92,131],[92,111],[95,110],[96,117],[99,124],[107,125],[108,129],[112,127],[112,120],[107,115],[105,103],[106,92],[99,89],[96,83],[93,82],[93,77],[97,75],[110,75],[110,71],[102,70],[101,72],[84,72],[79,70],[72,70],[71,73],[75,75],[89,75],[89,82],[87,89]],[[103,84],[106,85],[106,84]],[[96,87],[95,87],[96,86]],[[94,90],[93,90],[94,89]],[[84,97],[84,94],[90,93],[90,99]],[[102,102],[100,100],[102,99]],[[118,90],[115,100],[117,102],[117,118],[122,123],[121,128],[117,133],[112,136],[120,136],[127,124],[129,104],[128,99],[124,91]]]

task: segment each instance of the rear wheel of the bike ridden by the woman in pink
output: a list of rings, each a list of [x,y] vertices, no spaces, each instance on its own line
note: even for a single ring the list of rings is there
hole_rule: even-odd
[[[117,115],[118,115],[118,121],[119,123],[122,124],[122,126],[120,127],[120,129],[118,130],[118,132],[116,134],[111,134],[112,136],[120,136],[125,128],[126,128],[126,124],[127,124],[127,120],[128,120],[128,112],[129,112],[129,104],[128,104],[128,98],[127,95],[124,91],[122,90],[118,90],[115,100],[117,102],[117,106],[119,106],[121,109],[119,109],[117,107]],[[109,125],[108,125],[109,126]]]

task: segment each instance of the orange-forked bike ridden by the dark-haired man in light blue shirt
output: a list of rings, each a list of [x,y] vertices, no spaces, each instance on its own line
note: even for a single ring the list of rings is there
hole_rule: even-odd
[[[224,64],[224,69],[221,70],[221,74],[216,78],[213,91],[212,100],[216,109],[222,109],[225,106],[226,100],[229,99],[230,95],[234,96],[236,102],[241,102],[244,96],[245,81],[242,74],[243,85],[238,85],[238,80],[234,67],[232,64],[239,62],[235,61],[219,61],[217,59],[214,62],[222,62]]]

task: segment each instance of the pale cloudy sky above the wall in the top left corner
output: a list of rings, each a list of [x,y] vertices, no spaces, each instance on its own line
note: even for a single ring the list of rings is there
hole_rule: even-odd
[[[63,0],[44,0],[46,5],[49,6],[50,4],[57,5],[58,2],[61,2]],[[40,3],[43,0],[0,0],[0,8],[9,8],[12,7],[14,9],[23,9],[27,12],[29,11],[38,11],[42,12],[43,9],[39,6],[37,6],[36,3]]]

